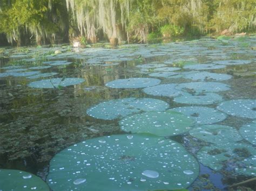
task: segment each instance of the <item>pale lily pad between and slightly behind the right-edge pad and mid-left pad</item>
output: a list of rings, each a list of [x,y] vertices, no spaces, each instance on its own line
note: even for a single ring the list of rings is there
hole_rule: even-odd
[[[223,98],[215,93],[199,93],[199,94],[189,94],[184,93],[181,96],[175,97],[174,102],[177,103],[186,103],[186,104],[213,104],[221,102]]]

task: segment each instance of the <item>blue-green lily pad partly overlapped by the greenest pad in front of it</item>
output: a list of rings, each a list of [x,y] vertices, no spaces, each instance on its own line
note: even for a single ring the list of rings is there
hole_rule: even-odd
[[[124,98],[99,103],[87,109],[87,115],[98,119],[112,120],[143,111],[165,111],[169,104],[151,98]]]

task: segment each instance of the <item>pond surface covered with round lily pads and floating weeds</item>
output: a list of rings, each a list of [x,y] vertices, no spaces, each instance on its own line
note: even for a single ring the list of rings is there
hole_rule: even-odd
[[[207,190],[254,178],[255,46],[252,36],[0,48],[0,190]]]

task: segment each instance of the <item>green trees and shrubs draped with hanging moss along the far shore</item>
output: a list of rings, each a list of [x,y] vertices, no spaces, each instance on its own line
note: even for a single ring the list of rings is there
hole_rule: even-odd
[[[255,34],[253,0],[3,0],[0,46]]]

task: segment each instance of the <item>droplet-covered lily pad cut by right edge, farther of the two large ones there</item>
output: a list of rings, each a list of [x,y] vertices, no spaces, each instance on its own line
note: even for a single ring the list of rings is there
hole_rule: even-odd
[[[256,119],[256,100],[230,100],[220,103],[217,109],[228,115]]]

